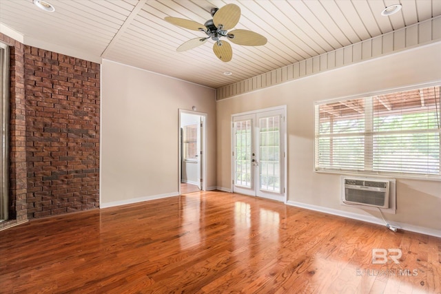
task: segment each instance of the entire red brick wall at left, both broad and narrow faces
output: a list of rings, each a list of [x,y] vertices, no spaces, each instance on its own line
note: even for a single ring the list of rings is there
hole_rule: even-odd
[[[10,220],[99,207],[100,65],[10,46]]]

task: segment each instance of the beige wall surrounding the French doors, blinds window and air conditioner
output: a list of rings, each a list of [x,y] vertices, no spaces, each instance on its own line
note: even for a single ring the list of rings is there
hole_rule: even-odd
[[[288,202],[380,221],[376,211],[340,205],[340,175],[314,171],[314,101],[441,81],[441,43],[402,51],[217,102],[218,187],[231,189],[231,115],[287,105]],[[391,222],[441,236],[441,181],[397,180]]]

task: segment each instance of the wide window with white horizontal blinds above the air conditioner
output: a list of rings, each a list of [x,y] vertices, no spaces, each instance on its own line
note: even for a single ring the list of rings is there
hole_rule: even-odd
[[[440,177],[440,86],[316,104],[316,171]]]

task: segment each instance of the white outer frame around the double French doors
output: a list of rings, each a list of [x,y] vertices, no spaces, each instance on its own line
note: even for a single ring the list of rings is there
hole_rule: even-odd
[[[263,109],[256,109],[256,110],[252,110],[249,112],[240,112],[238,114],[232,114],[231,116],[231,180],[230,180],[230,185],[231,185],[231,191],[232,193],[234,193],[234,156],[233,156],[233,151],[234,151],[234,118],[237,116],[247,116],[247,115],[256,115],[256,114],[260,114],[260,113],[264,113],[264,112],[272,112],[272,111],[280,111],[283,112],[283,120],[282,120],[282,124],[283,124],[283,129],[285,132],[283,132],[284,134],[280,134],[280,136],[283,136],[283,148],[284,148],[284,156],[281,160],[281,164],[283,165],[283,187],[280,187],[280,189],[283,189],[283,193],[280,193],[283,196],[283,202],[286,203],[287,202],[287,193],[288,193],[288,152],[287,152],[287,105],[280,105],[280,106],[275,106],[275,107],[269,107],[269,108],[263,108]],[[253,127],[254,129],[256,128],[256,123],[253,123]],[[254,131],[253,131],[254,133]],[[252,136],[254,137],[254,134],[252,134]],[[254,138],[252,139],[254,140]],[[254,144],[254,143],[253,143]],[[256,191],[256,189],[258,189],[258,187],[256,187],[256,182],[254,182],[254,190]],[[276,200],[275,198],[271,198],[271,197],[265,197],[267,199],[273,199]]]

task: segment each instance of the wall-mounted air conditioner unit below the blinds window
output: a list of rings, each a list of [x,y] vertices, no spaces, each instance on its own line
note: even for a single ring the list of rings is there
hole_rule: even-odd
[[[344,177],[341,201],[347,205],[395,209],[395,197],[393,205],[389,201],[391,182],[395,184],[395,180]]]

